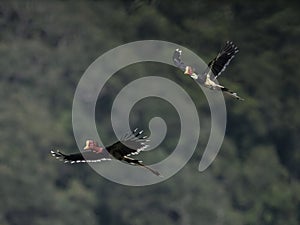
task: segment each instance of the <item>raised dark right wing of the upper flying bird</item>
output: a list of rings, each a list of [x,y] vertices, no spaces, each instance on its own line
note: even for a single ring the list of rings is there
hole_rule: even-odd
[[[213,72],[215,79],[221,75],[238,52],[238,47],[232,41],[227,41],[218,55],[208,63],[208,69]]]

